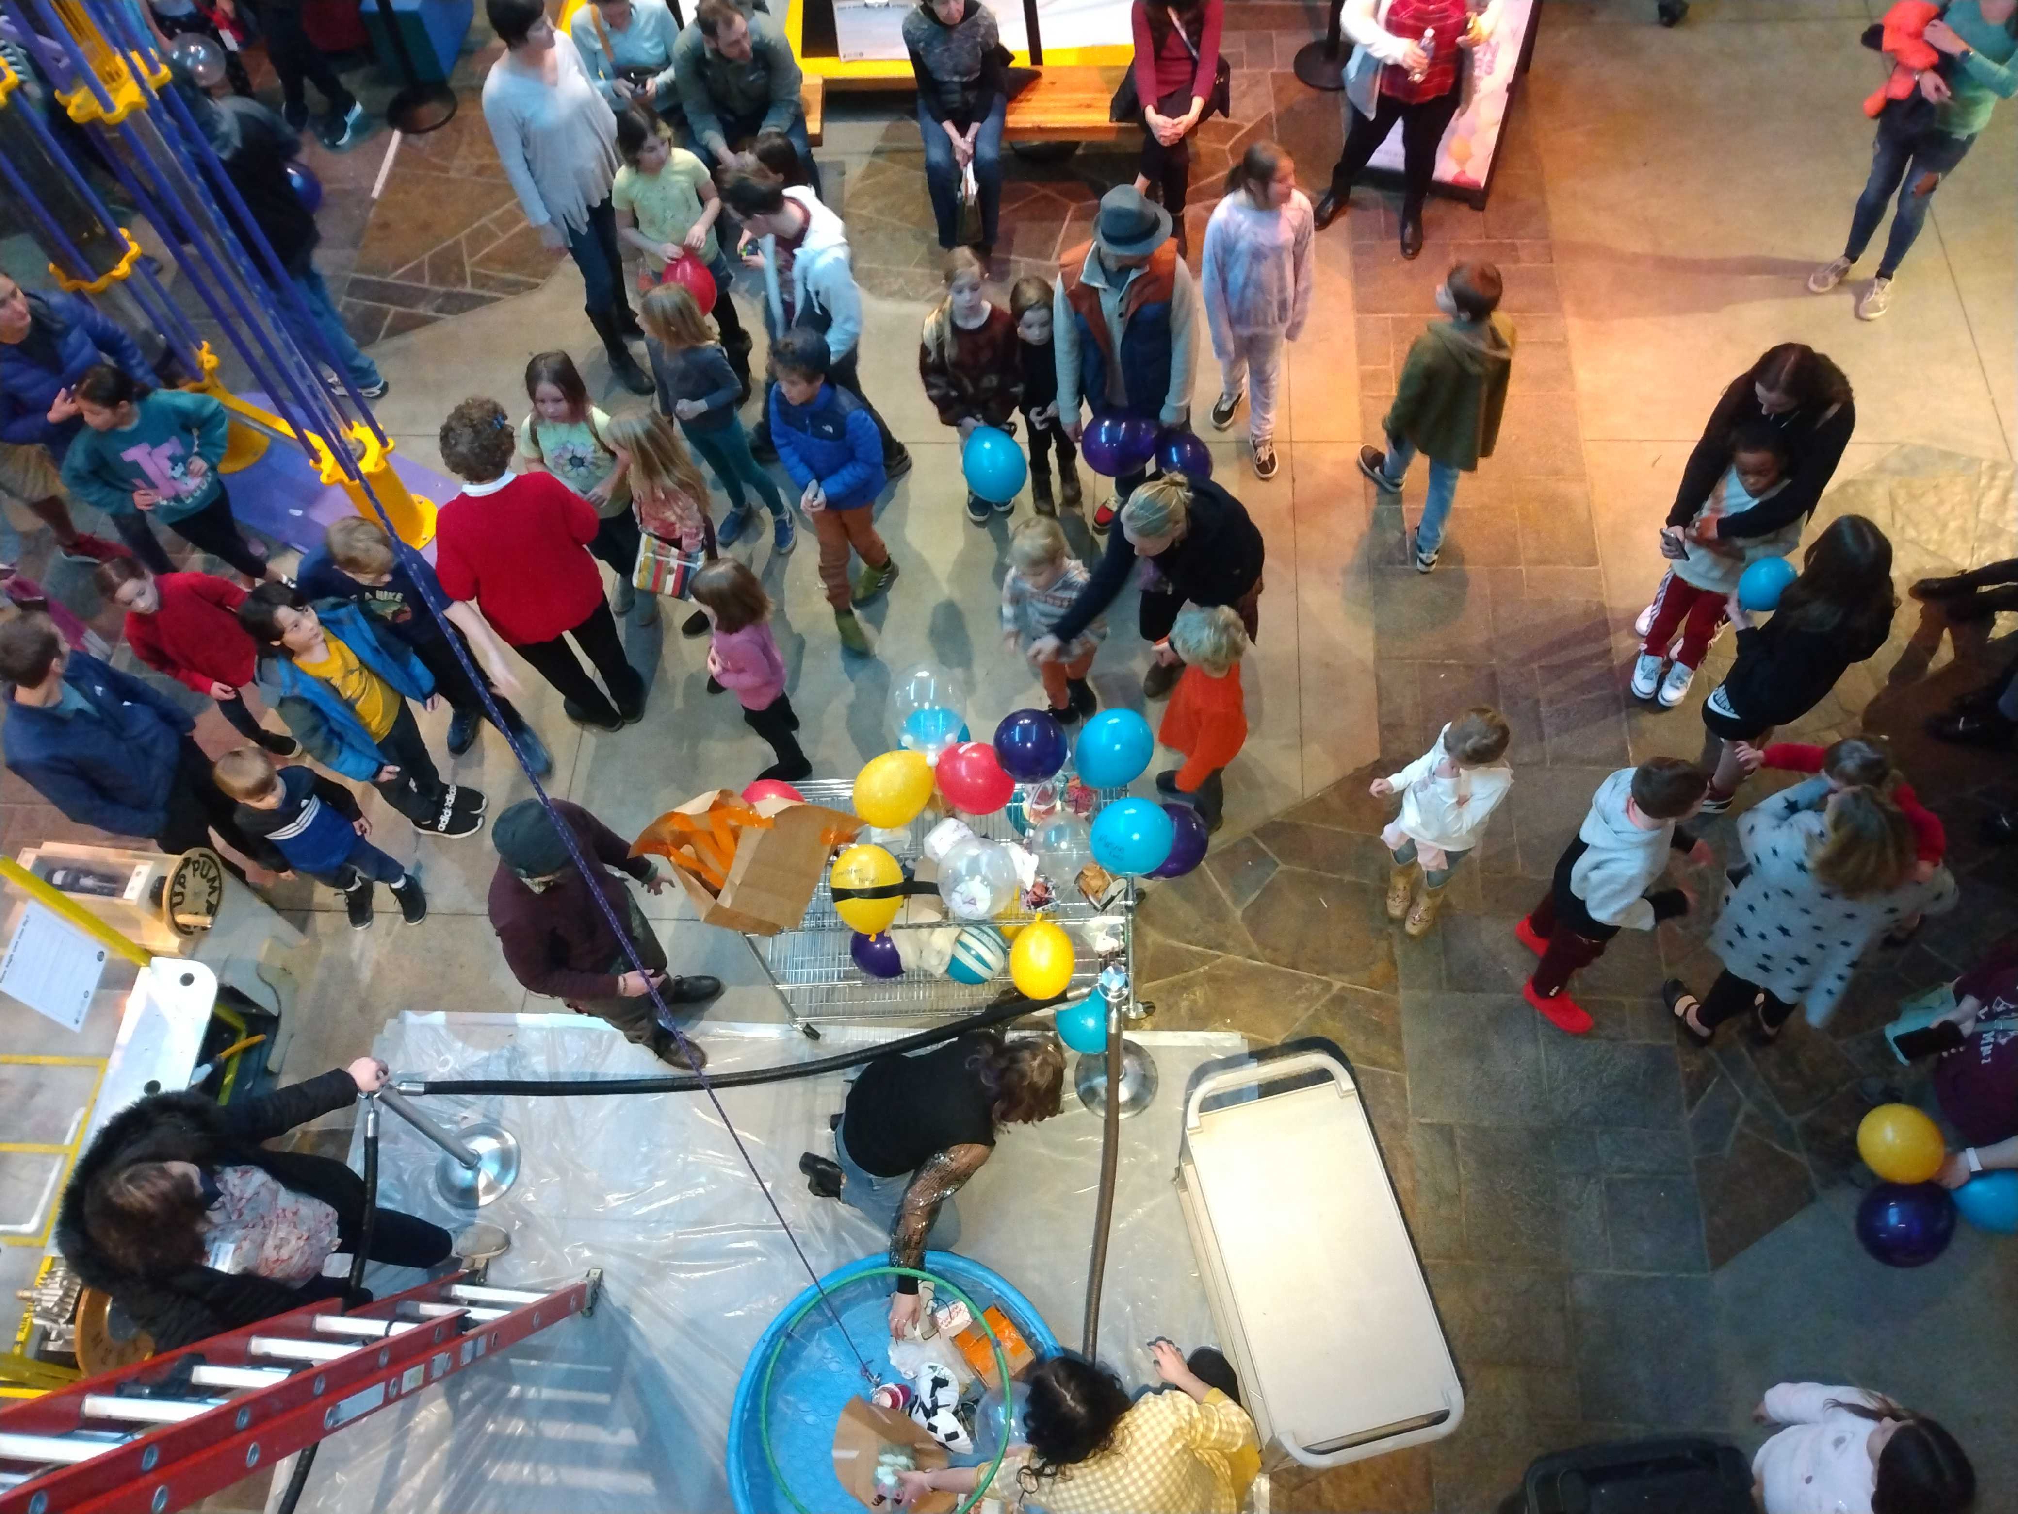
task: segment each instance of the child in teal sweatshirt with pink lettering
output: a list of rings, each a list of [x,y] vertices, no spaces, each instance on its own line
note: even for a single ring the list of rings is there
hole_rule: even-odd
[[[63,396],[57,404],[65,404]],[[147,525],[153,517],[254,583],[278,577],[232,517],[218,474],[230,422],[218,400],[188,390],[147,390],[125,369],[99,363],[77,382],[69,408],[83,418],[85,430],[63,456],[63,482],[113,517],[119,537],[149,569],[174,571]]]

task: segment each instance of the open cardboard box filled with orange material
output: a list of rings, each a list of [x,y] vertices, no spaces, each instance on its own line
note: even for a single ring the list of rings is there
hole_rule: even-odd
[[[753,805],[710,789],[646,826],[632,856],[668,858],[702,925],[775,937],[799,927],[827,856],[860,828],[842,809],[791,799]]]

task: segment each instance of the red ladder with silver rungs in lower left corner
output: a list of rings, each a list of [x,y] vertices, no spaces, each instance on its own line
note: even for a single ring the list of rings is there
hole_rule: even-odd
[[[0,1409],[0,1514],[170,1514],[575,1314],[466,1274],[341,1312],[335,1300]]]

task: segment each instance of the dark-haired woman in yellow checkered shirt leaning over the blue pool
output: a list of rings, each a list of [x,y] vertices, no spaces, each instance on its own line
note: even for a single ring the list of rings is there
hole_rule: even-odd
[[[1150,1350],[1176,1393],[1130,1403],[1120,1377],[1072,1353],[1033,1367],[1029,1445],[1009,1447],[989,1498],[1011,1508],[1029,1500],[1049,1514],[1235,1514],[1261,1470],[1261,1447],[1233,1367],[1211,1346],[1189,1363],[1168,1340]],[[981,1468],[902,1476],[908,1504],[932,1490],[971,1494]]]

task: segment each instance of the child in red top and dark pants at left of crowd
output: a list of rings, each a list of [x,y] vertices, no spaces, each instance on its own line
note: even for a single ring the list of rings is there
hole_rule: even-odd
[[[95,573],[99,593],[127,612],[133,656],[178,684],[218,700],[218,715],[274,757],[299,757],[301,743],[268,731],[240,692],[252,682],[258,648],[238,624],[246,591],[210,573],[155,577],[131,557],[111,557]]]

